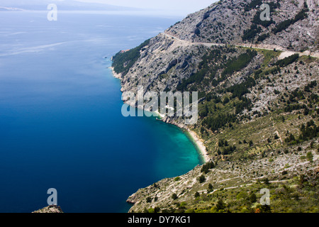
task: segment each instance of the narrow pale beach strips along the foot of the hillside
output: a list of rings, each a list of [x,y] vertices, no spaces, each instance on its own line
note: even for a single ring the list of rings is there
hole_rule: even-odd
[[[121,74],[116,73],[114,71],[114,67],[109,67],[109,69],[112,71],[113,77],[115,77],[116,79],[121,79]],[[199,138],[199,136],[197,135],[196,132],[191,131],[191,129],[189,129],[187,126],[181,126],[178,123],[174,123],[174,122],[170,123],[170,122],[164,121],[164,116],[162,114],[160,114],[159,111],[155,111],[155,114],[157,114],[157,116],[160,117],[160,119],[158,119],[158,121],[172,124],[172,125],[180,128],[182,131],[184,131],[184,133],[189,137],[191,142],[194,143],[195,148],[198,151],[198,155],[201,156],[203,164],[205,164],[209,160],[211,160],[211,157],[208,156],[206,146],[203,145],[203,142],[201,141],[201,139]]]

